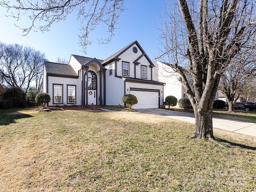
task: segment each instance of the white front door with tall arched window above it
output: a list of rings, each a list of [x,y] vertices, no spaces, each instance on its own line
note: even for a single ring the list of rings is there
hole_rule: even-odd
[[[93,71],[88,71],[88,87],[86,89],[88,89],[88,105],[97,105],[97,76]]]

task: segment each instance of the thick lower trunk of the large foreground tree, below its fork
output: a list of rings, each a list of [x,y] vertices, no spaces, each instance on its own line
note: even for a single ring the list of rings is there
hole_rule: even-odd
[[[214,140],[212,110],[207,112],[198,112],[198,110],[194,110],[194,114],[196,124],[192,138]]]

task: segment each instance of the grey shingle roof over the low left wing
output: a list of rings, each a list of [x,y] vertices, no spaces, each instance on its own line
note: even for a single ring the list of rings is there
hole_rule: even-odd
[[[73,78],[79,77],[71,65],[46,61],[44,62],[44,66],[45,66],[46,74],[48,76],[65,76],[65,77],[73,77]]]

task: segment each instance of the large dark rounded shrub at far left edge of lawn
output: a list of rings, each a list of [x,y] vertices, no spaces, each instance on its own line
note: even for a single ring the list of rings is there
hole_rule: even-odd
[[[20,87],[6,88],[0,101],[0,108],[22,107],[25,101],[25,93]]]

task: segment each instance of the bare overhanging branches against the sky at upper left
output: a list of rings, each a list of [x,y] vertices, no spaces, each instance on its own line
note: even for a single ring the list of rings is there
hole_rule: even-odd
[[[30,31],[49,31],[53,23],[66,20],[69,14],[76,11],[77,20],[85,23],[81,26],[81,33],[78,36],[80,46],[86,53],[86,46],[92,43],[88,40],[88,35],[99,23],[104,23],[108,28],[108,37],[99,41],[108,43],[112,39],[116,29],[114,26],[120,13],[124,11],[123,2],[124,0],[18,0],[16,2],[0,0],[0,5],[8,8],[11,13],[9,16],[17,20],[23,14],[31,19],[31,26],[27,28],[18,26],[23,30],[24,35]]]

